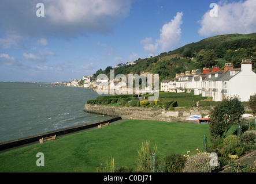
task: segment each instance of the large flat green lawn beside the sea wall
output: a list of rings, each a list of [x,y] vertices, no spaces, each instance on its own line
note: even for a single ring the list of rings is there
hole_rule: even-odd
[[[0,172],[96,172],[110,158],[117,168],[136,167],[144,141],[157,144],[162,155],[185,154],[203,148],[203,135],[209,137],[208,124],[125,120],[2,153]],[[38,152],[44,154],[44,167],[36,166]]]

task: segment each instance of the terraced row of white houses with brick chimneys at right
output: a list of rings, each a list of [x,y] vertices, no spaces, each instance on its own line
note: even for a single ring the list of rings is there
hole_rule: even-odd
[[[233,96],[248,101],[251,95],[256,94],[256,74],[252,71],[251,60],[242,60],[241,68],[233,68],[231,63],[226,63],[224,71],[214,66],[212,72],[203,68],[203,72],[185,72],[161,82],[161,91],[189,93],[192,90],[194,94],[202,94],[202,97],[212,97],[213,101]]]

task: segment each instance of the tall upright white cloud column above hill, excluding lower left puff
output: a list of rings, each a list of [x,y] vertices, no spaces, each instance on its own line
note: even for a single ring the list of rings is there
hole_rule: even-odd
[[[179,46],[182,16],[182,12],[177,12],[177,15],[172,21],[162,26],[160,39],[157,40],[157,43],[161,46],[162,52],[169,52],[171,48]]]

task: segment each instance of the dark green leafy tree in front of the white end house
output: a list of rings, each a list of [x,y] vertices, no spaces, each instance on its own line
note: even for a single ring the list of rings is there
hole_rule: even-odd
[[[212,142],[224,138],[233,124],[239,124],[244,106],[238,97],[225,98],[210,113],[210,136]]]

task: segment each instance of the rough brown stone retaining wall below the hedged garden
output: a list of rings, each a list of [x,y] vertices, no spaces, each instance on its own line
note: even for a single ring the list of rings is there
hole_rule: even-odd
[[[188,121],[186,119],[191,115],[209,114],[209,110],[204,110],[202,108],[166,111],[165,109],[158,108],[115,107],[91,104],[86,104],[84,106],[84,111],[106,116],[120,116],[122,119],[128,120],[183,121],[194,123],[195,121]]]

